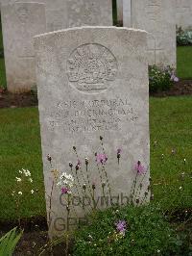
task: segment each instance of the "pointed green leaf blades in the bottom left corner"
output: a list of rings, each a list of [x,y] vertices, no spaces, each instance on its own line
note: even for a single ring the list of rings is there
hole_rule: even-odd
[[[0,255],[12,256],[16,244],[20,240],[23,232],[17,234],[16,227],[8,232],[4,237],[0,239]]]

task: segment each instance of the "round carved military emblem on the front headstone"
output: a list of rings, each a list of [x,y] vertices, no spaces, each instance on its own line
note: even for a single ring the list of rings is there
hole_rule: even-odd
[[[117,61],[105,46],[89,43],[75,49],[67,61],[69,83],[78,90],[106,90],[115,80]]]

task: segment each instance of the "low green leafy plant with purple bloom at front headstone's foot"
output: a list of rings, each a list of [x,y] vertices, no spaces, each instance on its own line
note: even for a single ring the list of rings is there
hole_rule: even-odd
[[[98,212],[77,232],[73,255],[182,255],[182,249],[158,206],[150,204]]]

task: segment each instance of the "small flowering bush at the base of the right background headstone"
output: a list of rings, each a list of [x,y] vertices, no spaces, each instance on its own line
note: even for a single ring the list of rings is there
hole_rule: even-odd
[[[178,81],[178,77],[175,76],[174,70],[170,66],[149,66],[150,92],[169,90],[174,85],[174,82]]]

